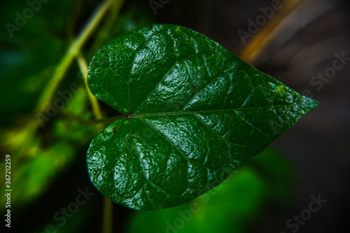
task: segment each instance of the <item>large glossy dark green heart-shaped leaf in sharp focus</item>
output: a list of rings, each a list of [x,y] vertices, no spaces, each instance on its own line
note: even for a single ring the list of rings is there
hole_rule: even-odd
[[[124,117],[87,151],[92,183],[132,209],[214,188],[318,106],[193,30],[155,24],[92,58],[92,94]]]

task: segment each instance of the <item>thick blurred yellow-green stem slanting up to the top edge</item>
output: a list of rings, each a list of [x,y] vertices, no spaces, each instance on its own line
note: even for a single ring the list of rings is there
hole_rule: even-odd
[[[61,62],[59,62],[57,65],[57,68],[55,69],[55,73],[53,74],[51,80],[41,94],[41,97],[36,104],[36,108],[34,109],[36,113],[43,113],[46,109],[46,104],[52,101],[53,97],[55,96],[55,90],[57,89],[57,86],[61,80],[64,78],[64,75],[69,69],[71,62],[76,57],[76,55],[78,55],[80,48],[83,47],[87,41],[87,38],[90,37],[94,29],[102,20],[102,17],[106,14],[113,1],[114,0],[106,0],[104,3],[102,3],[101,6],[99,6],[99,8],[97,8],[96,12],[91,17],[91,20],[87,23],[83,31],[81,31],[78,38],[76,38],[76,40],[71,43]]]

